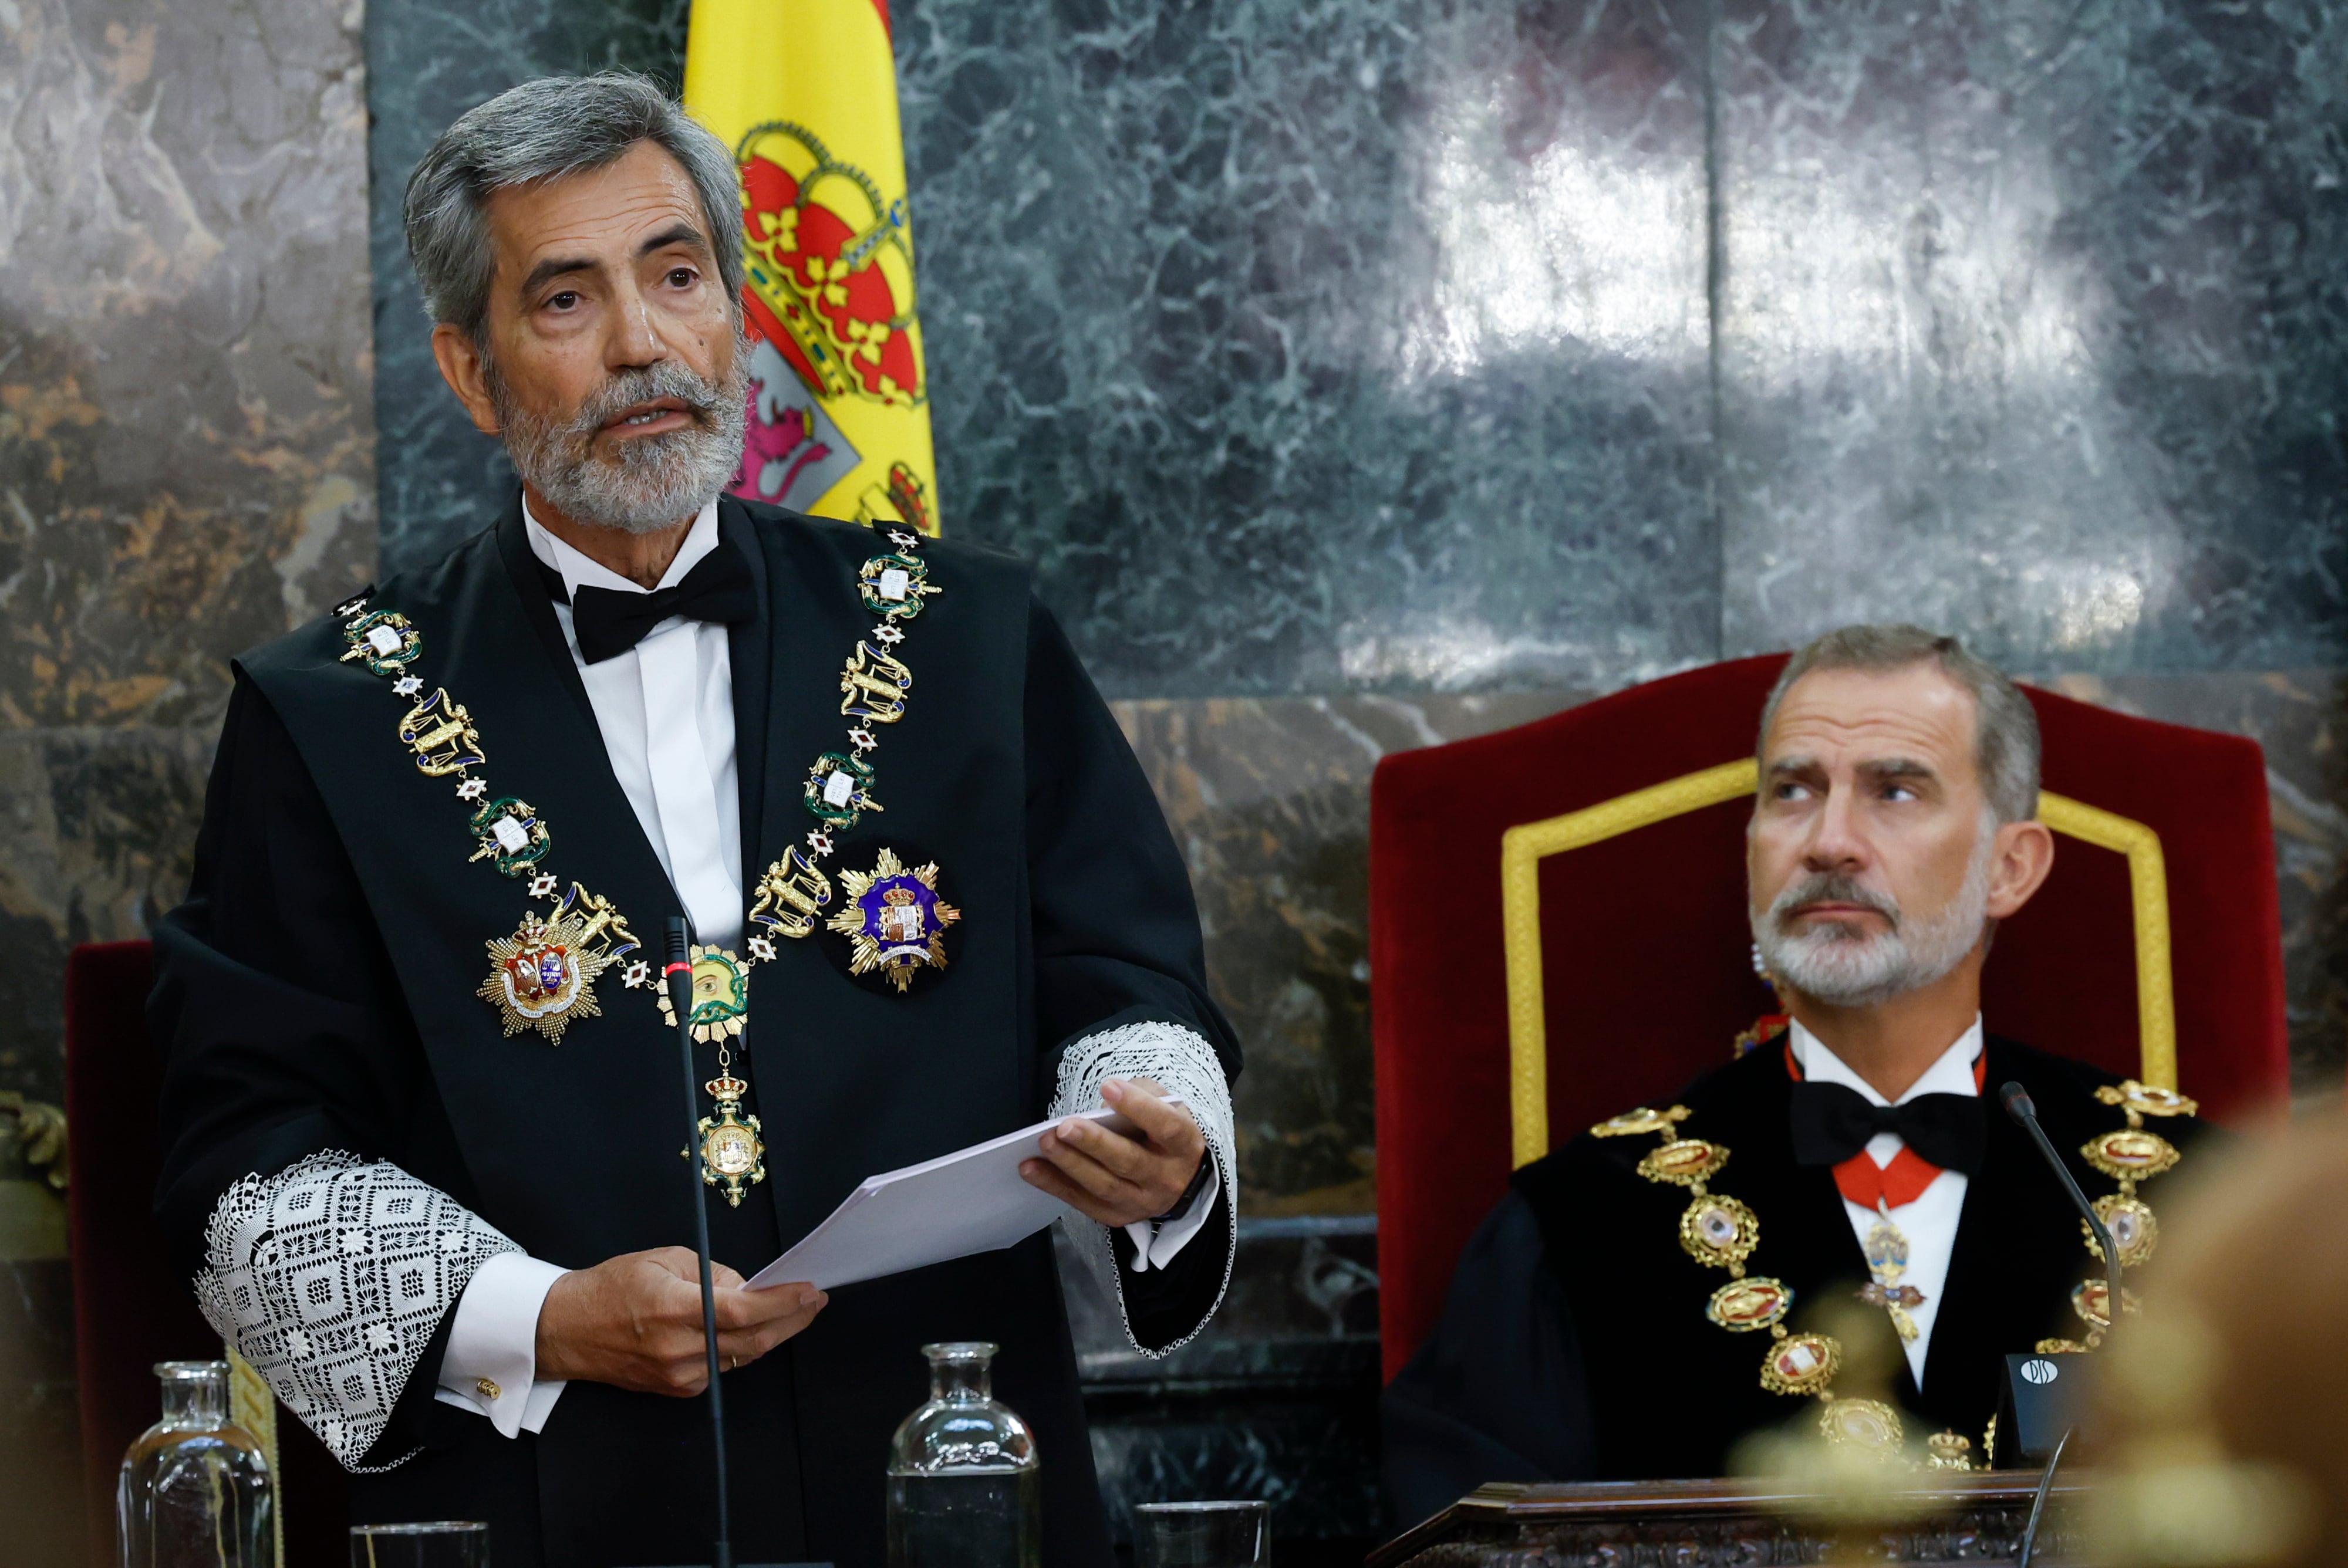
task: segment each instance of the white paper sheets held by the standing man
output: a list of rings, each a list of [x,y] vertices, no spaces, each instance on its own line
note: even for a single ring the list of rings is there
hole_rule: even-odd
[[[1139,1131],[1108,1108],[1078,1115],[1125,1136]],[[829,1291],[1028,1239],[1071,1214],[1057,1197],[1019,1178],[1019,1162],[1038,1157],[1043,1134],[1061,1120],[1066,1117],[1035,1122],[902,1171],[866,1176],[822,1225],[761,1268],[749,1286],[763,1291],[770,1284],[808,1282]]]

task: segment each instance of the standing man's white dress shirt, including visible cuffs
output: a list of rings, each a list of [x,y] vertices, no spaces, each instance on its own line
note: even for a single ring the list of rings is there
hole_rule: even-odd
[[[521,505],[531,554],[564,577],[564,594],[601,587],[643,594],[636,582],[592,561],[545,530]],[[674,587],[718,547],[718,507],[709,502],[657,587]],[[580,657],[571,606],[554,606],[571,660],[587,683],[603,751],[636,812],[660,869],[693,918],[695,941],[730,948],[742,939],[742,798],[735,772],[733,646],[721,622],[672,615],[627,653],[589,664]],[[744,1033],[747,1038],[747,1033]],[[1127,1225],[1132,1268],[1165,1268],[1200,1232],[1221,1195],[1214,1162],[1190,1211],[1162,1228]],[[538,1432],[564,1383],[540,1383],[538,1310],[566,1270],[526,1253],[502,1253],[474,1272],[448,1324],[441,1399],[486,1415],[498,1432]]]

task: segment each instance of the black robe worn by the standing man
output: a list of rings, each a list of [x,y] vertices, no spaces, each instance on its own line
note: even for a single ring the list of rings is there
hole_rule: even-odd
[[[751,887],[812,826],[801,784],[841,746],[838,671],[873,620],[857,566],[885,545],[737,500],[718,528],[763,606],[730,629]],[[1226,1075],[1240,1068],[1183,861],[1026,568],[970,545],[920,554],[944,592],[897,648],[913,688],[873,756],[885,812],[838,836],[829,869],[869,869],[880,845],[935,859],[963,922],[951,967],[911,995],[850,979],[831,932],[780,941],[751,969],[735,1070],[747,1059],[768,1181],[740,1209],[700,1192],[718,1261],[744,1275],[864,1176],[1038,1120],[1071,1040],[1158,1019],[1207,1038]],[[681,908],[610,772],[519,498],[369,608],[420,629],[413,671],[472,711],[491,793],[540,810],[547,869],[608,897],[657,953]],[[566,1268],[690,1246],[676,1033],[615,967],[596,984],[601,1016],[573,1016],[559,1047],[502,1038],[474,988],[524,885],[467,864],[456,779],[413,765],[394,735],[406,702],[343,653],[340,622],[319,620],[237,662],[195,885],[157,932],[157,1214],[176,1265],[202,1265],[230,1183],[319,1150],[399,1164]],[[716,1075],[714,1045],[697,1068]],[[1212,1310],[1228,1242],[1221,1202],[1172,1270],[1125,1275],[1143,1345]],[[362,1460],[423,1451],[352,1476],[355,1521],[486,1519],[500,1568],[707,1561],[704,1401],[573,1383],[542,1434],[505,1439],[432,1399],[451,1317]],[[1000,1345],[996,1392],[1038,1432],[1045,1561],[1111,1561],[1047,1237],[838,1289],[812,1329],[726,1373],[740,1561],[883,1561],[888,1439],[927,1394],[927,1340]]]

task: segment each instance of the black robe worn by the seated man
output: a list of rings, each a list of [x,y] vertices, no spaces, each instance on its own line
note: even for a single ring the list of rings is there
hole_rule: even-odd
[[[1975,1458],[2005,1357],[2050,1336],[2083,1338],[2071,1289],[2101,1272],[2078,1209],[2029,1134],[1998,1113],[1996,1089],[2031,1091],[2090,1199],[2118,1183],[2078,1148],[2125,1124],[2094,1099],[2118,1077],[1996,1035],[1984,1049],[1989,1150],[1965,1188],[1923,1387],[1885,1312],[1855,1314],[1876,1343],[1850,1345],[1855,1359],[1897,1366],[1890,1397],[1911,1439],[1954,1430],[1972,1439]],[[1745,1272],[1794,1289],[1787,1326],[1801,1331],[1822,1326],[1820,1307],[1853,1300],[1867,1261],[1834,1171],[1794,1164],[1792,1082],[1784,1049],[1768,1045],[1695,1080],[1676,1103],[1691,1110],[1681,1136],[1728,1145],[1709,1185],[1759,1216],[1761,1244]],[[2191,1117],[2146,1117],[2146,1127],[2181,1150],[2202,1131]],[[1728,1333],[1705,1317],[1728,1272],[1681,1251],[1688,1192],[1637,1171],[1655,1145],[1655,1136],[1583,1131],[1517,1171],[1468,1242],[1442,1322],[1383,1399],[1399,1519],[1425,1519],[1484,1481],[1716,1476],[1747,1434],[1815,1420],[1815,1399],[1761,1387],[1768,1333]],[[2155,1214],[2167,1181],[2139,1183]],[[1848,1373],[1836,1390],[1855,1392]]]

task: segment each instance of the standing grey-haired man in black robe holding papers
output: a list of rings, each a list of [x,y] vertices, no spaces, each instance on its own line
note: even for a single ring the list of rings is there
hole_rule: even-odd
[[[409,181],[432,352],[521,486],[237,660],[157,934],[157,1214],[355,1521],[486,1519],[498,1568],[707,1561],[700,1202],[742,1561],[883,1561],[920,1345],[993,1340],[1045,1561],[1108,1563],[1047,1237],[744,1286],[864,1176],[1068,1117],[1021,1174],[1162,1354],[1230,1277],[1240,1056],[1026,568],[721,498],[735,181],[632,75],[514,87]],[[1071,1115],[1101,1103],[1139,1136]]]

